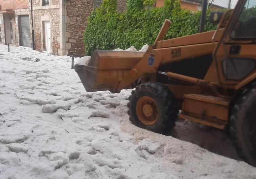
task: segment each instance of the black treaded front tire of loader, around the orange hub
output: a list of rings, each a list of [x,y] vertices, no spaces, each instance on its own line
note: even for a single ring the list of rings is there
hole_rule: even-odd
[[[137,101],[143,96],[153,98],[158,107],[157,121],[150,126],[141,123],[136,114]],[[130,121],[134,125],[164,135],[170,134],[171,129],[175,126],[175,121],[178,119],[179,109],[176,98],[170,89],[161,83],[147,82],[137,86],[129,97],[127,107],[129,108]]]

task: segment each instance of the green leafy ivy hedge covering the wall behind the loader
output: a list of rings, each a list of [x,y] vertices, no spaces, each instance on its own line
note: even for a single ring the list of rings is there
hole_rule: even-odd
[[[144,44],[153,44],[165,19],[172,24],[165,39],[197,33],[201,12],[181,9],[179,0],[165,0],[164,7],[152,7],[155,0],[127,0],[126,11],[116,10],[117,0],[103,0],[92,11],[84,32],[85,54],[94,49],[127,49],[132,45],[140,49]],[[207,12],[207,19],[209,12]],[[216,26],[207,20],[205,30]]]

